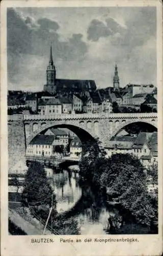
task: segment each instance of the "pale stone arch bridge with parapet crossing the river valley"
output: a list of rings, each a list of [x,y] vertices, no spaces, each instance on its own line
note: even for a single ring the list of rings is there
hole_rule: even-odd
[[[157,128],[157,113],[100,113],[62,115],[24,115],[25,140],[31,140],[52,126],[65,127],[74,132],[82,142],[99,138],[103,146],[125,126],[143,122]]]

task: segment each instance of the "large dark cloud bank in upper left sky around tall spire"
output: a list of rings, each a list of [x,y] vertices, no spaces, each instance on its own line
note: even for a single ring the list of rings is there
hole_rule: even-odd
[[[23,16],[17,10],[9,8],[7,13],[7,45],[8,45],[8,78],[15,83],[17,74],[26,74],[31,65],[30,56],[40,56],[48,63],[50,41],[52,42],[53,58],[62,60],[79,60],[87,53],[86,42],[82,34],[72,34],[67,40],[61,41],[58,32],[60,25],[48,18],[35,20]],[[44,57],[47,57],[47,60]],[[26,66],[26,69],[25,69]],[[37,66],[35,67],[37,69]]]

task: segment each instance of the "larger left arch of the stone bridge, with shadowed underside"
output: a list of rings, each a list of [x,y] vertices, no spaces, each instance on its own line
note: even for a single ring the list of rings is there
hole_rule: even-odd
[[[40,127],[39,130],[34,131],[28,138],[26,138],[26,145],[29,145],[30,142],[38,135],[38,134],[44,134],[48,129],[51,127],[55,128],[67,128],[73,133],[76,134],[76,136],[81,140],[82,143],[90,141],[95,141],[97,139],[97,135],[93,133],[92,129],[88,127],[80,127],[77,124],[72,123],[62,123],[61,121],[46,124],[45,126]]]

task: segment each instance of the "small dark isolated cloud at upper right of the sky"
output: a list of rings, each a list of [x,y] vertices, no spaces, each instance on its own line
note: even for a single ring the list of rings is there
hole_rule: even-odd
[[[121,33],[124,30],[115,19],[108,17],[105,23],[98,19],[93,19],[88,27],[87,34],[88,40],[98,41],[100,37],[108,37],[116,33]]]

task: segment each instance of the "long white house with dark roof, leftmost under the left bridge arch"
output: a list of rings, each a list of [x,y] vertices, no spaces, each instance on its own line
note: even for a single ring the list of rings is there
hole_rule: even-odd
[[[27,156],[50,157],[53,155],[55,136],[37,135],[26,147]]]

